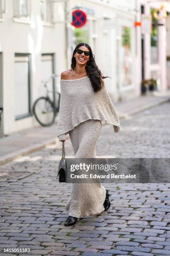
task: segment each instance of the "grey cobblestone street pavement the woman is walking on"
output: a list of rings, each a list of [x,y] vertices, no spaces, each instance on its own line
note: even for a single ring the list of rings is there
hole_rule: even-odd
[[[97,156],[170,157],[170,103],[122,120],[121,133],[102,127]],[[73,156],[70,140],[67,157]],[[30,248],[32,256],[170,255],[170,184],[105,184],[107,212],[65,227],[71,184],[59,184],[61,145],[0,166],[0,255],[4,248]]]

